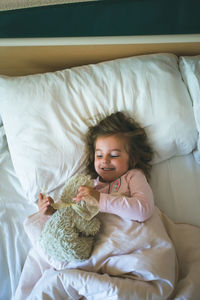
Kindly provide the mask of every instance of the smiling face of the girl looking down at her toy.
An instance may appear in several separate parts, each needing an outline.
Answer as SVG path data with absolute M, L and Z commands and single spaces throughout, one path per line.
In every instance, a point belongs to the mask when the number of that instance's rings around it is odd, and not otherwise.
M 129 169 L 127 140 L 122 135 L 99 136 L 95 143 L 94 167 L 102 181 L 112 182 Z

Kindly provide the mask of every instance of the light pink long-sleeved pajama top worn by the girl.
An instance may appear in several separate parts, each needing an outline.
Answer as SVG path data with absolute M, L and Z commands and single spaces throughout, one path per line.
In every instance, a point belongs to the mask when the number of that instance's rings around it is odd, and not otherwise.
M 132 169 L 111 183 L 94 180 L 100 192 L 99 210 L 123 219 L 144 222 L 154 211 L 154 199 L 144 173 Z

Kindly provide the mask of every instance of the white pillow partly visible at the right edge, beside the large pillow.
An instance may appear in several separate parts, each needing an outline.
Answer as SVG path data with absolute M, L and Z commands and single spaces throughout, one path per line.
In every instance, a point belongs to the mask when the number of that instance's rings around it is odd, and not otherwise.
M 193 101 L 193 110 L 196 120 L 199 139 L 194 151 L 195 160 L 200 164 L 200 55 L 182 56 L 179 59 L 180 71 L 190 92 Z

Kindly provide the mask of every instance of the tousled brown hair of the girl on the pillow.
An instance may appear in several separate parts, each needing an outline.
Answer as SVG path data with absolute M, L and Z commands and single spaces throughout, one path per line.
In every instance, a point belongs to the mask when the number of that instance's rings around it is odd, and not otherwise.
M 148 143 L 145 130 L 132 118 L 122 112 L 112 113 L 97 125 L 89 127 L 86 135 L 86 171 L 95 178 L 95 142 L 99 136 L 122 134 L 127 138 L 125 149 L 129 154 L 129 169 L 141 169 L 150 178 L 153 151 Z

